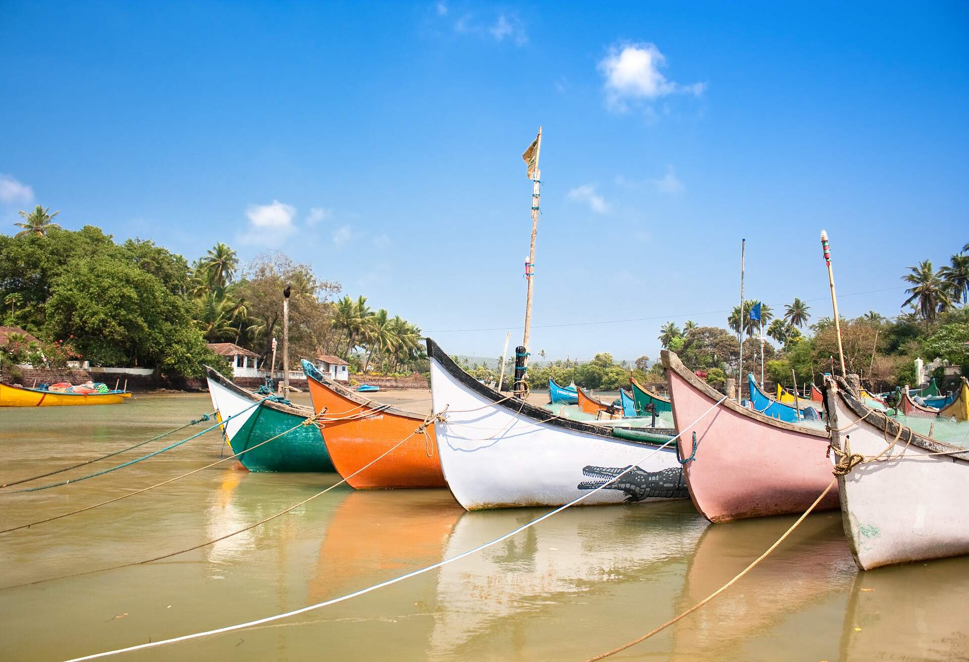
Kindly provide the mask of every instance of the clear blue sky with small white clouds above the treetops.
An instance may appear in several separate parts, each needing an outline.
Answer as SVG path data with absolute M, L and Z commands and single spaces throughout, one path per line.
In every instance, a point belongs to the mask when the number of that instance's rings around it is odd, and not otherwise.
M 534 352 L 723 326 L 741 237 L 748 298 L 829 314 L 822 228 L 841 294 L 898 288 L 843 314 L 897 314 L 969 241 L 969 5 L 735 5 L 0 0 L 0 229 L 278 247 L 496 356 L 541 124 Z

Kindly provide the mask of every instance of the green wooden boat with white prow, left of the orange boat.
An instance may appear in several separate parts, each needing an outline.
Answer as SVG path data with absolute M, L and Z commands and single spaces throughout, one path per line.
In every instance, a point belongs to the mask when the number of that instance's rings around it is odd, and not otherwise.
M 327 446 L 315 425 L 300 424 L 313 416 L 309 407 L 273 401 L 236 386 L 231 379 L 205 366 L 208 394 L 219 420 L 226 421 L 223 434 L 233 449 L 242 453 L 277 434 L 283 436 L 246 451 L 238 457 L 249 471 L 333 471 Z M 259 406 L 253 407 L 254 402 Z M 296 429 L 292 429 L 293 427 Z M 291 430 L 287 432 L 287 430 Z

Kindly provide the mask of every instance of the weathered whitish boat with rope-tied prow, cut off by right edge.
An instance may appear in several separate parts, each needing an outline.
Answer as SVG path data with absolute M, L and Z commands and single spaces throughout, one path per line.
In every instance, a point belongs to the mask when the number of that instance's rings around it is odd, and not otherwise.
M 825 410 L 832 460 L 865 458 L 838 476 L 861 570 L 969 553 L 969 451 L 872 411 L 840 377 L 825 380 Z M 875 457 L 883 459 L 868 461 Z

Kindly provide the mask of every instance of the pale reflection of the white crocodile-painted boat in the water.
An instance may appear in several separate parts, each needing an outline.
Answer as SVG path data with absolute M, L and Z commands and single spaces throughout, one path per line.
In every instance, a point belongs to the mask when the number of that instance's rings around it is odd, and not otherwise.
M 467 513 L 445 556 L 546 512 Z M 601 623 L 622 619 L 628 632 L 638 632 L 654 609 L 669 617 L 706 525 L 684 502 L 574 508 L 447 565 L 438 573 L 427 659 L 581 659 L 601 652 L 615 639 Z

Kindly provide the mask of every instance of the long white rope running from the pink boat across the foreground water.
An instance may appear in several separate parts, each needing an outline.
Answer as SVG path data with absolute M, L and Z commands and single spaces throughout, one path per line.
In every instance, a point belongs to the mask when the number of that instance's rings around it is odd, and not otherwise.
M 713 403 L 706 411 L 703 412 L 703 414 L 701 414 L 701 416 L 696 421 L 694 421 L 689 426 L 684 427 L 684 429 L 689 429 L 690 427 L 696 426 L 698 423 L 700 423 L 700 421 L 703 420 L 704 417 L 706 417 L 707 414 L 709 414 L 711 411 L 713 411 L 718 406 L 720 406 L 720 404 L 725 399 L 727 399 L 727 396 L 726 395 L 724 395 L 719 400 L 717 400 L 715 403 Z M 480 407 L 480 408 L 484 408 L 484 407 L 491 406 L 491 404 L 492 403 L 488 403 L 488 404 L 486 404 L 486 405 L 484 405 L 483 407 Z M 467 411 L 474 411 L 474 410 L 467 410 Z M 438 414 L 437 416 L 438 417 L 441 417 L 442 419 L 444 418 L 443 412 L 441 414 Z M 471 550 L 468 550 L 467 552 L 461 552 L 459 554 L 456 554 L 454 556 L 451 556 L 449 558 L 446 558 L 446 559 L 444 559 L 442 561 L 438 561 L 437 563 L 433 563 L 431 565 L 425 566 L 425 567 L 420 568 L 418 570 L 414 570 L 414 571 L 409 572 L 409 573 L 406 573 L 404 575 L 400 575 L 398 577 L 395 577 L 395 578 L 393 578 L 391 580 L 388 580 L 387 582 L 376 583 L 376 584 L 373 584 L 371 586 L 367 586 L 366 588 L 361 588 L 358 591 L 354 591 L 353 593 L 347 593 L 346 595 L 341 595 L 340 597 L 332 598 L 332 599 L 327 600 L 327 601 L 324 601 L 324 602 L 318 602 L 315 605 L 309 605 L 307 607 L 301 607 L 301 608 L 299 608 L 297 610 L 293 610 L 293 611 L 290 611 L 290 612 L 284 612 L 282 614 L 276 614 L 276 615 L 266 616 L 264 618 L 258 618 L 256 620 L 250 620 L 250 621 L 246 621 L 244 623 L 236 623 L 234 625 L 227 625 L 225 627 L 216 628 L 214 630 L 206 630 L 204 632 L 196 632 L 196 633 L 193 633 L 193 634 L 190 634 L 190 635 L 182 635 L 181 637 L 172 637 L 172 639 L 163 639 L 163 640 L 160 640 L 160 641 L 157 641 L 157 642 L 148 642 L 147 644 L 139 644 L 137 646 L 128 646 L 128 647 L 125 647 L 125 648 L 117 648 L 115 650 L 107 650 L 105 652 L 93 653 L 91 655 L 84 655 L 82 657 L 76 657 L 76 658 L 73 658 L 71 660 L 68 660 L 68 662 L 82 662 L 83 660 L 94 660 L 94 659 L 98 659 L 98 658 L 101 658 L 101 657 L 108 657 L 109 655 L 118 655 L 120 653 L 132 652 L 132 651 L 135 651 L 135 650 L 142 650 L 144 648 L 154 648 L 154 647 L 157 647 L 157 646 L 166 646 L 168 644 L 176 644 L 178 642 L 186 642 L 186 641 L 193 640 L 193 639 L 200 639 L 202 637 L 209 637 L 211 635 L 223 634 L 225 632 L 232 632 L 234 630 L 242 630 L 242 629 L 245 629 L 245 628 L 248 628 L 248 627 L 253 627 L 253 626 L 256 626 L 256 625 L 262 625 L 264 623 L 269 623 L 269 622 L 272 622 L 272 621 L 275 621 L 275 620 L 280 620 L 282 618 L 288 618 L 289 616 L 294 616 L 294 615 L 299 615 L 299 614 L 305 614 L 307 612 L 312 612 L 314 610 L 318 610 L 318 609 L 321 609 L 323 607 L 328 607 L 329 605 L 335 605 L 336 603 L 344 602 L 346 600 L 350 600 L 351 598 L 359 597 L 360 595 L 365 595 L 367 593 L 370 593 L 372 591 L 378 590 L 380 588 L 385 588 L 387 586 L 391 586 L 394 583 L 400 583 L 400 582 L 403 582 L 405 580 L 409 580 L 409 579 L 411 579 L 413 577 L 418 577 L 419 575 L 423 575 L 424 573 L 430 572 L 431 570 L 437 570 L 438 568 L 441 568 L 441 567 L 446 566 L 446 565 L 448 565 L 450 563 L 453 563 L 454 561 L 459 561 L 462 558 L 465 558 L 467 556 L 471 556 L 472 554 L 475 554 L 475 553 L 478 553 L 478 552 L 482 552 L 482 551 L 484 551 L 484 550 L 486 550 L 486 549 L 488 549 L 490 547 L 494 547 L 495 545 L 498 545 L 499 543 L 502 543 L 502 542 L 508 540 L 509 538 L 517 535 L 518 533 L 524 531 L 525 529 L 531 528 L 535 524 L 538 524 L 539 522 L 545 521 L 548 518 L 552 517 L 553 515 L 556 515 L 558 513 L 561 513 L 562 511 L 566 510 L 567 508 L 571 508 L 572 506 L 575 506 L 576 504 L 581 503 L 582 501 L 584 501 L 585 499 L 589 498 L 590 496 L 592 496 L 596 492 L 598 492 L 598 491 L 600 491 L 602 489 L 606 489 L 608 486 L 610 486 L 611 484 L 615 483 L 616 481 L 618 481 L 619 479 L 621 479 L 623 476 L 625 476 L 627 473 L 629 473 L 634 468 L 636 468 L 637 465 L 641 464 L 642 462 L 644 462 L 645 460 L 647 460 L 649 457 L 652 457 L 653 455 L 659 453 L 666 446 L 669 446 L 670 444 L 672 444 L 672 442 L 675 441 L 679 437 L 680 434 L 682 434 L 682 432 L 680 432 L 680 433 L 676 434 L 675 436 L 671 437 L 670 440 L 667 441 L 665 444 L 663 444 L 662 446 L 659 446 L 659 447 L 653 449 L 650 453 L 646 454 L 644 457 L 641 457 L 641 459 L 639 461 L 630 464 L 628 467 L 626 467 L 625 469 L 623 469 L 622 471 L 620 471 L 618 474 L 616 474 L 616 476 L 614 478 L 612 478 L 612 480 L 604 483 L 603 485 L 599 486 L 598 488 L 590 489 L 589 491 L 584 492 L 583 494 L 579 495 L 578 497 L 576 497 L 572 501 L 569 501 L 565 505 L 559 506 L 558 508 L 555 508 L 554 510 L 551 510 L 551 511 L 547 512 L 545 515 L 543 515 L 543 516 L 541 516 L 539 518 L 536 518 L 535 520 L 528 521 L 528 522 L 522 524 L 521 526 L 517 527 L 515 530 L 510 531 L 508 533 L 505 533 L 504 535 L 499 536 L 498 538 L 495 538 L 492 541 L 489 541 L 487 543 L 484 543 L 482 545 L 479 545 L 478 547 L 475 547 L 475 548 L 473 548 Z

